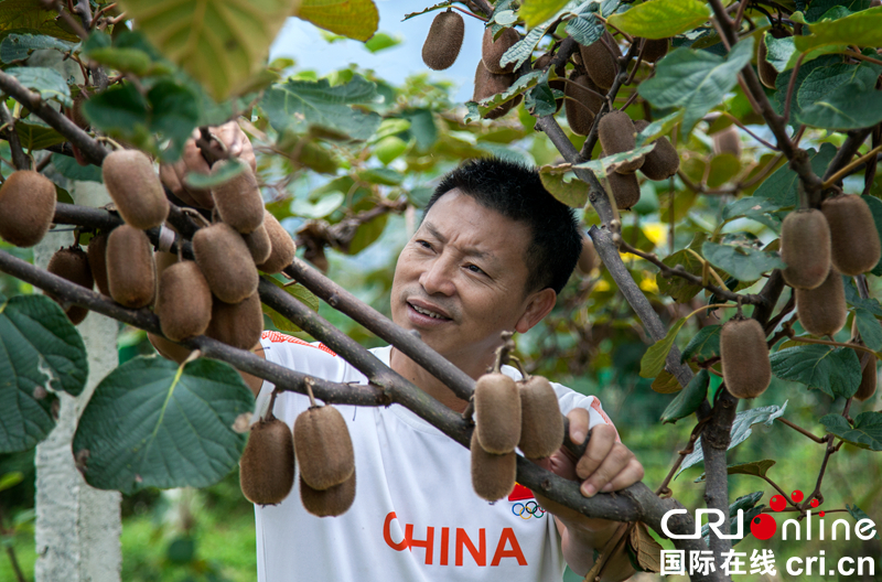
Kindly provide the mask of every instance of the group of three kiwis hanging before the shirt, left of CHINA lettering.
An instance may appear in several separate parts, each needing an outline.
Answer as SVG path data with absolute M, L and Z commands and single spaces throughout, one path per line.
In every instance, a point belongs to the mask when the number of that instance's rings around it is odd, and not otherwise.
M 300 467 L 300 500 L 318 517 L 344 514 L 355 500 L 355 453 L 346 421 L 332 406 L 311 406 L 293 431 L 273 417 L 251 425 L 239 461 L 239 486 L 258 505 L 276 505 L 291 493 Z

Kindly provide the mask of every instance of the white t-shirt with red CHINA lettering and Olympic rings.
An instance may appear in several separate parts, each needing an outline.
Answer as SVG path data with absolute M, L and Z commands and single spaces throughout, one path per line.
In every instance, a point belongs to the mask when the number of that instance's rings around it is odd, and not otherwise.
M 263 332 L 267 359 L 336 382 L 365 376 L 322 344 Z M 389 364 L 391 347 L 372 349 Z M 517 370 L 503 371 L 516 379 Z M 591 425 L 612 424 L 596 398 L 552 384 L 564 414 L 587 409 Z M 262 413 L 272 384 L 257 399 Z M 273 413 L 292 425 L 309 399 L 283 392 Z M 260 582 L 552 581 L 564 562 L 555 520 L 526 487 L 488 503 L 472 489 L 470 452 L 410 410 L 337 406 L 355 449 L 356 493 L 340 517 L 303 509 L 294 488 L 281 504 L 255 506 Z

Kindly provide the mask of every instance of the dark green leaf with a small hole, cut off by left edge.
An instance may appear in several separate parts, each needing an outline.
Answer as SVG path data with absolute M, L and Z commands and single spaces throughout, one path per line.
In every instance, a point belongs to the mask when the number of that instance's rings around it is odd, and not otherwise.
M 86 346 L 45 295 L 0 295 L 0 453 L 26 451 L 55 427 L 52 391 L 83 391 Z

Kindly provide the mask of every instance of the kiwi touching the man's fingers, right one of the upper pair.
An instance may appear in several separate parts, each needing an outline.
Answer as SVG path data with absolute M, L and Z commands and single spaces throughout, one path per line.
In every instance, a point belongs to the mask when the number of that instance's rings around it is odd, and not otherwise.
M 550 456 L 563 444 L 563 417 L 551 382 L 530 376 L 520 382 L 520 441 L 524 456 Z

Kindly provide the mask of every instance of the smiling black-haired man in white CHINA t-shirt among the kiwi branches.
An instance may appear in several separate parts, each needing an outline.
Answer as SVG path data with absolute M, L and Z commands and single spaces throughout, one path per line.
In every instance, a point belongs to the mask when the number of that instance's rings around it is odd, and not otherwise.
M 445 176 L 395 270 L 392 320 L 473 378 L 493 364 L 501 333 L 524 333 L 555 305 L 581 250 L 572 212 L 541 185 L 534 170 L 486 159 Z M 321 344 L 276 332 L 263 357 L 332 381 L 364 376 Z M 466 402 L 395 348 L 373 351 L 381 362 L 453 410 Z M 513 368 L 504 369 L 519 378 Z M 621 442 L 593 397 L 555 385 L 570 438 L 591 433 L 582 459 L 563 451 L 538 461 L 581 482 L 585 496 L 622 489 L 643 467 Z M 258 410 L 269 402 L 263 382 Z M 293 424 L 309 407 L 284 392 L 273 408 Z M 399 406 L 337 407 L 355 448 L 356 496 L 348 511 L 316 518 L 299 494 L 256 506 L 258 580 L 560 580 L 563 561 L 579 574 L 593 563 L 615 522 L 559 508 L 553 522 L 531 492 L 517 486 L 487 503 L 471 487 L 470 452 Z M 624 552 L 604 578 L 633 573 Z

